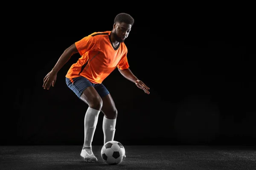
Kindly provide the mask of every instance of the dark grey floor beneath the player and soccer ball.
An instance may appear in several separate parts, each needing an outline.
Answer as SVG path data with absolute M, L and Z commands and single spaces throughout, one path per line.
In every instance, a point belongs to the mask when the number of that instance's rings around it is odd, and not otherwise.
M 125 146 L 126 158 L 108 165 L 80 157 L 81 146 L 0 146 L 0 170 L 256 170 L 252 146 Z

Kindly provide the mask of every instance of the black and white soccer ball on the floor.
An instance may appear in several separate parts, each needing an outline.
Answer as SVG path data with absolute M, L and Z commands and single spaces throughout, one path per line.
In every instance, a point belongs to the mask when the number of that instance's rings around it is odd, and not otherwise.
M 110 165 L 116 165 L 124 160 L 125 147 L 117 141 L 106 142 L 101 150 L 102 159 Z

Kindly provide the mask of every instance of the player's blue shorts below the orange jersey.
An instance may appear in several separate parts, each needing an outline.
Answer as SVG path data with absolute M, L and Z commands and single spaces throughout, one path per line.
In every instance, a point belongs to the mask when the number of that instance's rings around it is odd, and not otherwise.
M 109 94 L 109 91 L 102 83 L 94 84 L 91 83 L 87 78 L 81 76 L 73 78 L 72 82 L 69 78 L 66 77 L 66 84 L 76 94 L 76 96 L 79 97 L 79 99 L 83 91 L 90 86 L 93 86 L 95 90 L 98 92 L 99 96 L 101 97 L 104 97 Z

